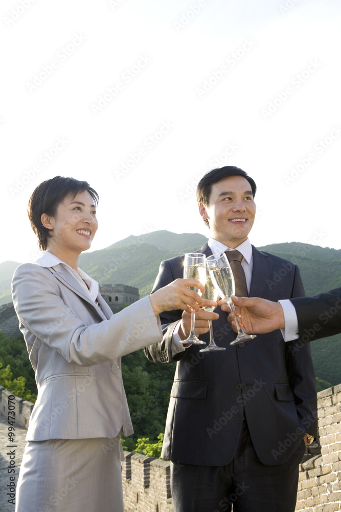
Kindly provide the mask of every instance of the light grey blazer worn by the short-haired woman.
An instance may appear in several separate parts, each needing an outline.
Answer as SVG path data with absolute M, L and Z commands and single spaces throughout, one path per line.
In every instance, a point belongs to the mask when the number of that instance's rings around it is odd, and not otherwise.
M 121 356 L 162 339 L 149 297 L 113 315 L 63 265 L 32 263 L 15 270 L 12 294 L 38 387 L 26 440 L 132 434 Z

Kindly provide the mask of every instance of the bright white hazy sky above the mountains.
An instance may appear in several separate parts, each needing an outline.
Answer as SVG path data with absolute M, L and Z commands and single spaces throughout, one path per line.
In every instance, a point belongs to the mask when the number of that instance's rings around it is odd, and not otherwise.
M 43 180 L 98 191 L 97 250 L 159 229 L 208 234 L 195 186 L 223 165 L 257 183 L 254 245 L 341 248 L 339 0 L 2 0 L 0 11 L 0 262 L 37 254 L 26 208 Z

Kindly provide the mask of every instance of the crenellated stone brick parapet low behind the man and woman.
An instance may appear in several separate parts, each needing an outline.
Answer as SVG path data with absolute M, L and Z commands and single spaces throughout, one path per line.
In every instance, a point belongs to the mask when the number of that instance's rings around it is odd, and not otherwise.
M 11 393 L 0 386 L 0 413 Z M 341 510 L 341 385 L 317 394 L 319 438 L 300 465 L 297 511 Z M 14 398 L 15 421 L 27 428 L 33 403 Z M 173 512 L 170 462 L 125 452 L 122 482 L 126 512 Z

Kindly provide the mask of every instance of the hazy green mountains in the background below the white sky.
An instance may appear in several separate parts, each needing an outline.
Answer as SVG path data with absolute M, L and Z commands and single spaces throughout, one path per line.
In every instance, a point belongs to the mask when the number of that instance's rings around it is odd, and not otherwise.
M 81 254 L 79 266 L 100 284 L 126 284 L 148 295 L 161 261 L 200 248 L 207 238 L 198 233 L 166 230 L 130 236 L 105 249 Z M 260 250 L 299 265 L 307 295 L 341 286 L 341 250 L 298 242 L 272 244 Z M 0 264 L 0 304 L 11 302 L 10 283 L 18 263 Z M 327 385 L 341 382 L 341 334 L 311 343 L 316 376 Z M 325 385 L 326 387 L 326 385 Z

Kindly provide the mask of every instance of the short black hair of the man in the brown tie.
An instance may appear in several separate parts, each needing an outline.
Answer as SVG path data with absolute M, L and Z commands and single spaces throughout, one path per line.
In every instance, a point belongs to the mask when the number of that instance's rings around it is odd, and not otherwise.
M 226 167 L 212 169 L 201 178 L 196 187 L 196 198 L 198 203 L 202 203 L 204 206 L 209 206 L 212 185 L 224 178 L 230 178 L 231 176 L 242 176 L 245 178 L 245 180 L 249 182 L 252 194 L 255 197 L 257 189 L 255 181 L 249 177 L 243 169 L 235 167 L 234 165 L 228 165 Z M 209 226 L 209 221 L 207 219 L 204 219 L 203 222 Z

